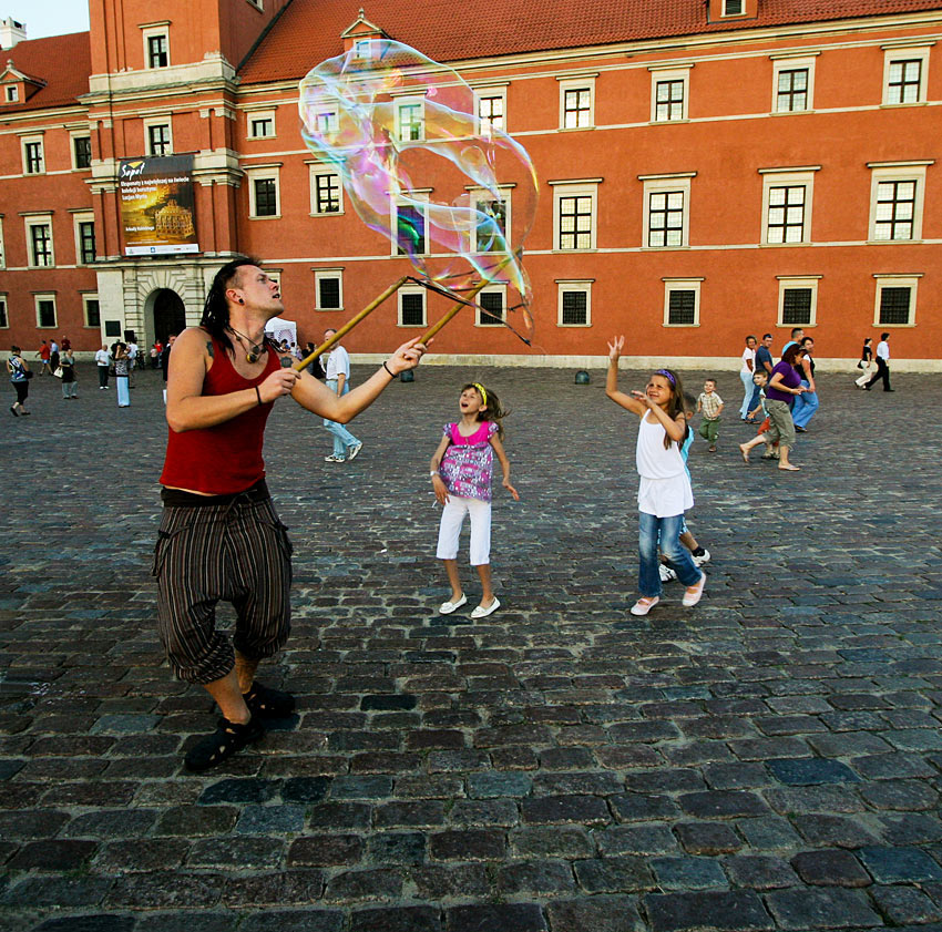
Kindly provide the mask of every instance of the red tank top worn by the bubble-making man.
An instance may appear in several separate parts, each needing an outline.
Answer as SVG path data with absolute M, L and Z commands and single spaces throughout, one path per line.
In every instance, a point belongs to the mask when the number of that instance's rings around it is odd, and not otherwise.
M 269 348 L 260 376 L 244 379 L 235 370 L 228 350 L 213 340 L 213 365 L 203 382 L 203 395 L 229 395 L 262 385 L 280 367 Z M 250 489 L 265 477 L 262 442 L 272 403 L 256 404 L 221 424 L 181 433 L 170 430 L 161 484 L 208 495 L 228 495 Z

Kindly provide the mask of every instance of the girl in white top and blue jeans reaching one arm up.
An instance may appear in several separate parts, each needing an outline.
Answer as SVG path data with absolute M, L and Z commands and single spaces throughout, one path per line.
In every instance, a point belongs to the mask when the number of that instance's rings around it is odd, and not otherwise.
M 618 391 L 618 359 L 624 337 L 608 344 L 608 377 L 605 395 L 616 404 L 641 418 L 636 462 L 638 475 L 638 588 L 641 598 L 633 615 L 646 615 L 661 601 L 657 547 L 686 586 L 683 603 L 696 605 L 706 584 L 706 573 L 694 565 L 689 551 L 680 545 L 684 512 L 694 505 L 690 480 L 684 469 L 680 444 L 687 432 L 684 389 L 669 369 L 658 369 L 644 392 Z

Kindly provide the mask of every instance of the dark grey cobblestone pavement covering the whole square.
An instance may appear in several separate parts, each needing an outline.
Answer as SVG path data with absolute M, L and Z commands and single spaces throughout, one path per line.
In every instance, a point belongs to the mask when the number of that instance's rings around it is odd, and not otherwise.
M 119 410 L 80 377 L 70 402 L 34 379 L 0 449 L 2 929 L 942 928 L 934 377 L 887 399 L 823 376 L 799 473 L 745 467 L 737 420 L 716 454 L 698 439 L 706 596 L 672 583 L 645 618 L 636 421 L 601 371 L 426 367 L 339 467 L 281 402 L 295 629 L 264 679 L 298 714 L 203 776 L 181 759 L 211 703 L 154 633 L 158 378 Z M 513 409 L 521 492 L 495 500 L 504 607 L 478 623 L 437 614 L 427 477 L 470 377 Z

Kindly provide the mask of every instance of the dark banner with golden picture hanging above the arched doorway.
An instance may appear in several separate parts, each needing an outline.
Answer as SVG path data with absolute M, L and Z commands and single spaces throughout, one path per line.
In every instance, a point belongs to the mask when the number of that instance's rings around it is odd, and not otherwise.
M 192 155 L 122 158 L 117 193 L 125 256 L 199 252 Z

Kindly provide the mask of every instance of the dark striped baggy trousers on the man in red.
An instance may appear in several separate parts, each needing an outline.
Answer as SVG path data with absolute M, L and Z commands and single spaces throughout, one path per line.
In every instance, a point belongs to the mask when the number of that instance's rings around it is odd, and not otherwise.
M 276 654 L 290 632 L 291 544 L 269 498 L 165 505 L 153 575 L 157 627 L 174 674 L 213 683 L 244 657 Z M 216 631 L 216 604 L 236 611 L 233 645 Z

